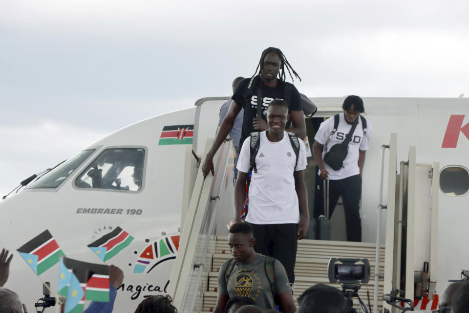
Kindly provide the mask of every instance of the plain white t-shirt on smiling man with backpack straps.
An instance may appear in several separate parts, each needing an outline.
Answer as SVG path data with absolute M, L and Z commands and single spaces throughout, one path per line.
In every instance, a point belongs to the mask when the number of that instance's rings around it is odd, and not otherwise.
M 299 222 L 298 196 L 295 191 L 296 155 L 286 132 L 282 140 L 271 142 L 265 132 L 259 135 L 256 156 L 257 173 L 249 185 L 249 211 L 246 222 L 253 224 L 288 224 Z M 297 171 L 306 168 L 306 150 L 301 139 Z M 251 137 L 247 137 L 239 153 L 236 168 L 248 173 L 251 159 Z

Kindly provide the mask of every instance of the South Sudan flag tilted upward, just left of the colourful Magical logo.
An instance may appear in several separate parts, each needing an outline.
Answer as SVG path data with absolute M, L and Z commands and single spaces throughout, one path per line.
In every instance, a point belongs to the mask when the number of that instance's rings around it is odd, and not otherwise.
M 115 256 L 119 251 L 128 246 L 133 240 L 133 237 L 127 231 L 117 226 L 116 229 L 104 235 L 88 247 L 96 253 L 97 256 L 104 262 Z

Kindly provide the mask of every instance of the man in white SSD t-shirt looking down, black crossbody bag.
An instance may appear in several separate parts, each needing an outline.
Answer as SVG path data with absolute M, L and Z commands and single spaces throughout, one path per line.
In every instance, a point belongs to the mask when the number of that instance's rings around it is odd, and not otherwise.
M 332 216 L 334 208 L 342 197 L 345 213 L 345 226 L 347 241 L 362 241 L 362 221 L 360 219 L 360 198 L 362 197 L 362 171 L 365 162 L 365 153 L 370 144 L 371 125 L 366 122 L 363 127 L 360 113 L 364 112 L 363 100 L 359 96 L 351 95 L 345 98 L 342 104 L 343 113 L 339 114 L 339 125 L 332 138 L 329 139 L 334 129 L 334 116 L 321 123 L 314 137 L 313 156 L 319 166 L 321 179 L 329 177 L 329 217 Z M 364 118 L 363 118 L 364 119 Z M 348 144 L 348 153 L 343 160 L 343 167 L 334 171 L 323 162 L 324 155 L 329 149 L 341 143 L 350 132 L 354 122 L 358 122 L 351 141 Z M 364 135 L 363 130 L 366 129 Z M 326 149 L 323 149 L 324 145 Z M 322 194 L 322 183 L 320 184 Z M 315 207 L 314 217 L 317 218 L 322 212 Z

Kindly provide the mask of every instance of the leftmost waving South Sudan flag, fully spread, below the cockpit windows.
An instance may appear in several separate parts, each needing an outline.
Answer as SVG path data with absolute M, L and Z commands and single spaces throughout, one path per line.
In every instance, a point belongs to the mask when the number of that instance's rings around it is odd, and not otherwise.
M 16 250 L 36 275 L 41 275 L 58 263 L 61 255 L 65 256 L 48 230 L 44 230 Z

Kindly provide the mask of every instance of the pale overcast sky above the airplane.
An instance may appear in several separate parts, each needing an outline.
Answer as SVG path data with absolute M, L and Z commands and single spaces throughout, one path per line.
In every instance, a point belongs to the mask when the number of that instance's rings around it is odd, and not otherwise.
M 128 124 L 229 96 L 268 46 L 310 97 L 469 93 L 468 13 L 467 0 L 0 0 L 0 196 Z

